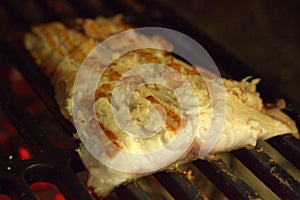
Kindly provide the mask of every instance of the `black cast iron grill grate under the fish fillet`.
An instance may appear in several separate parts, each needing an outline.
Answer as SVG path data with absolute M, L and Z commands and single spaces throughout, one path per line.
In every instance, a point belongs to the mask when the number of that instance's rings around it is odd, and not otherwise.
M 95 17 L 98 14 L 111 15 L 121 12 L 128 16 L 127 20 L 130 23 L 135 25 L 157 25 L 173 28 L 186 33 L 197 41 L 201 41 L 201 44 L 210 52 L 218 66 L 222 66 L 222 69 L 224 65 L 230 66 L 230 68 L 224 67 L 222 74 L 242 78 L 251 72 L 242 62 L 226 53 L 198 29 L 182 20 L 180 16 L 158 1 L 143 1 L 143 4 L 134 0 L 105 1 L 101 3 L 94 0 L 76 0 L 72 3 L 61 1 L 61 5 L 71 6 L 69 12 L 60 12 L 55 2 L 32 0 L 21 5 L 15 0 L 4 1 L 0 6 L 9 11 L 6 13 L 4 20 L 11 22 L 12 28 L 1 28 L 1 34 L 9 35 L 1 41 L 1 55 L 7 56 L 7 59 L 21 72 L 22 76 L 52 113 L 56 122 L 63 127 L 66 135 L 70 136 L 74 132 L 74 128 L 60 114 L 54 101 L 53 88 L 32 62 L 19 41 L 19 35 L 33 24 L 50 20 Z M 32 10 L 36 10 L 37 13 L 31 13 Z M 148 11 L 147 14 L 144 13 L 145 10 Z M 178 24 L 180 24 L 180 27 Z M 241 66 L 243 67 L 241 68 Z M 265 99 L 276 97 L 270 92 L 275 90 L 270 89 L 268 86 L 263 86 L 262 90 L 268 91 L 267 93 L 264 92 L 266 94 Z M 29 185 L 34 182 L 45 181 L 55 184 L 66 199 L 92 199 L 91 194 L 76 176 L 77 172 L 84 171 L 84 167 L 74 149 L 62 149 L 53 145 L 45 137 L 45 130 L 40 130 L 36 120 L 27 112 L 23 102 L 11 92 L 11 88 L 5 80 L 0 82 L 0 93 L 1 108 L 35 155 L 34 158 L 27 160 L 10 159 L 9 154 L 0 145 L 0 193 L 9 195 L 13 199 L 35 199 Z M 294 110 L 290 114 L 299 123 L 297 113 L 299 112 Z M 300 169 L 300 161 L 295 159 L 300 156 L 299 141 L 292 136 L 285 135 L 270 139 L 268 143 Z M 233 155 L 280 198 L 300 199 L 300 183 L 276 164 L 266 153 L 259 152 L 255 148 L 252 150 L 237 150 L 233 152 Z M 195 161 L 190 165 L 205 174 L 230 199 L 261 198 L 221 158 Z M 154 174 L 153 177 L 175 199 L 206 198 L 202 194 L 201 188 L 191 183 L 180 173 L 160 172 Z M 136 186 L 135 183 L 119 187 L 116 190 L 116 195 L 120 199 L 150 198 L 150 195 L 143 188 Z

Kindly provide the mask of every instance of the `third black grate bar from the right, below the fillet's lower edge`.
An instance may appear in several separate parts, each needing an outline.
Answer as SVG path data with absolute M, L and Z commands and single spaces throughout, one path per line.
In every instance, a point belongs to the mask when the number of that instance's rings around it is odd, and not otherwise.
M 228 198 L 262 199 L 217 156 L 193 162 Z

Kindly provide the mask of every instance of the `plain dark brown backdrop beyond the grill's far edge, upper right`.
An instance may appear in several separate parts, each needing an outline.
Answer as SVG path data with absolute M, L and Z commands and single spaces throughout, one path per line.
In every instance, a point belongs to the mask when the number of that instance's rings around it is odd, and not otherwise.
M 300 1 L 160 1 L 300 105 Z

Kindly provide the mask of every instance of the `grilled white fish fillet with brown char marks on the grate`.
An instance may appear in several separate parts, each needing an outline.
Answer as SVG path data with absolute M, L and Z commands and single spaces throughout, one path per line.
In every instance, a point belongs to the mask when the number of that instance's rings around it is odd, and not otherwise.
M 37 25 L 25 35 L 24 46 L 37 66 L 51 80 L 62 114 L 74 125 L 78 120 L 74 116 L 81 112 L 72 109 L 72 97 L 81 92 L 80 88 L 73 87 L 80 66 L 100 42 L 130 28 L 117 15 L 111 18 L 75 19 L 71 25 L 61 22 Z M 172 48 L 172 44 L 161 36 L 146 37 L 137 32 L 121 38 L 120 45 L 124 45 L 124 48 L 130 47 L 137 38 L 157 47 Z M 128 43 L 128 40 L 131 42 Z M 130 73 L 137 66 L 149 63 L 150 66 L 138 68 L 139 73 Z M 149 76 L 145 76 L 147 74 Z M 199 152 L 211 127 L 213 109 L 219 109 L 211 100 L 212 91 L 209 90 L 207 82 L 215 83 L 217 88 L 224 86 L 225 110 L 217 140 L 201 158 L 242 147 L 253 147 L 258 140 L 281 134 L 293 134 L 299 138 L 295 122 L 281 111 L 284 108 L 283 100 L 274 106 L 264 106 L 256 91 L 259 79 L 246 77 L 235 81 L 219 78 L 201 66 L 192 66 L 175 58 L 168 51 L 151 48 L 117 56 L 100 75 L 94 95 L 82 96 L 80 103 L 84 109 L 95 108 L 96 114 L 95 118 L 82 122 L 92 131 L 85 134 L 97 135 L 96 138 L 106 148 L 99 157 L 92 155 L 83 143 L 77 149 L 89 172 L 87 185 L 98 196 L 108 196 L 122 183 L 201 157 Z M 163 85 L 149 83 L 149 78 L 161 78 L 164 80 Z M 115 88 L 122 94 L 122 91 L 126 93 L 132 87 L 136 88 L 129 102 L 122 95 L 113 94 Z M 218 93 L 218 90 L 214 92 Z M 185 109 L 180 108 L 179 98 Z M 218 95 L 216 98 L 221 99 Z M 127 112 L 130 122 L 122 120 Z M 118 117 L 120 123 L 116 122 Z M 98 135 L 95 130 L 97 124 L 104 131 L 104 135 Z M 140 129 L 135 129 L 136 127 L 142 127 L 145 133 L 155 131 L 156 134 L 147 137 L 128 134 L 139 132 Z M 194 137 L 191 137 L 191 132 Z M 74 137 L 81 139 L 79 134 L 74 134 Z M 189 145 L 182 147 L 179 143 L 176 146 L 178 148 L 155 154 L 157 149 L 167 148 L 167 144 L 176 137 L 182 141 L 189 140 Z M 104 142 L 105 138 L 109 142 Z M 97 144 L 95 142 L 90 145 L 97 149 Z M 181 154 L 172 162 L 166 162 L 175 151 Z M 135 160 L 127 160 L 122 157 L 123 152 L 154 154 L 151 157 L 141 156 Z M 124 169 L 128 166 L 126 169 L 131 167 L 135 170 L 120 170 L 118 167 L 108 166 L 101 162 L 103 158 L 110 163 L 117 162 L 118 166 L 125 166 Z

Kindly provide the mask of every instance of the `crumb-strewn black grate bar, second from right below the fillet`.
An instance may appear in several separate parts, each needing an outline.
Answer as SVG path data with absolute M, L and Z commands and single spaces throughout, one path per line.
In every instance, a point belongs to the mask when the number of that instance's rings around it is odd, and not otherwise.
M 258 148 L 233 154 L 282 199 L 300 199 L 300 183 Z

